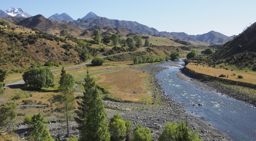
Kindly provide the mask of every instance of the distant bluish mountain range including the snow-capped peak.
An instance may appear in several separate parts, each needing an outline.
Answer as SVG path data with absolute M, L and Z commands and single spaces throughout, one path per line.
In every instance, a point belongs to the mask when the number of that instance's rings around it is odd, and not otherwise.
M 112 31 L 113 31 L 114 28 L 122 27 L 128 32 L 131 32 L 134 34 L 148 34 L 156 37 L 180 39 L 184 41 L 193 42 L 194 44 L 202 43 L 202 42 L 207 44 L 225 43 L 236 36 L 234 35 L 232 37 L 228 37 L 216 31 L 209 31 L 208 33 L 198 34 L 198 35 L 189 35 L 184 32 L 166 32 L 166 31 L 160 32 L 160 31 L 157 31 L 157 29 L 155 28 L 149 28 L 146 25 L 143 25 L 134 21 L 108 19 L 106 17 L 99 17 L 93 12 L 89 12 L 86 16 L 78 20 L 73 20 L 73 18 L 66 13 L 62 13 L 62 14 L 57 13 L 50 16 L 48 19 L 46 19 L 42 15 L 36 15 L 31 17 L 29 14 L 27 14 L 25 11 L 23 11 L 20 8 L 9 8 L 8 10 L 5 11 L 5 13 L 15 17 L 26 18 L 26 19 L 17 19 L 17 18 L 9 17 L 6 19 L 9 22 L 15 23 L 17 25 L 23 25 L 26 27 L 33 27 L 38 29 L 43 28 L 44 31 L 48 31 L 48 33 L 51 32 L 50 34 L 53 34 L 52 31 L 50 30 L 52 29 L 52 27 L 55 28 L 54 29 L 54 31 L 56 31 L 55 33 L 59 33 L 61 31 L 61 28 L 63 28 L 60 25 L 72 24 L 73 29 L 69 28 L 69 31 L 76 30 L 76 31 L 79 31 L 79 33 L 76 33 L 76 35 L 88 36 L 88 37 L 90 37 L 90 35 L 87 35 L 86 33 L 89 34 L 90 32 L 86 32 L 86 30 L 90 31 L 90 28 L 93 28 L 95 25 L 99 25 L 100 27 L 102 27 L 102 30 L 104 30 L 103 28 L 108 27 L 108 28 L 112 28 Z M 6 18 L 7 17 L 6 14 L 0 11 L 0 17 Z M 67 23 L 67 22 L 72 22 L 72 23 Z M 124 31 L 119 34 L 128 33 L 127 31 Z

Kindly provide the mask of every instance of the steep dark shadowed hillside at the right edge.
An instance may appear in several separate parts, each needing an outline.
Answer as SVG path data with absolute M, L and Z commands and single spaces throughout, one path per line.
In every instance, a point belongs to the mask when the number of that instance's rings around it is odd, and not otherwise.
M 212 62 L 236 65 L 256 71 L 256 23 L 251 25 L 212 56 Z M 217 61 L 216 61 L 217 60 Z

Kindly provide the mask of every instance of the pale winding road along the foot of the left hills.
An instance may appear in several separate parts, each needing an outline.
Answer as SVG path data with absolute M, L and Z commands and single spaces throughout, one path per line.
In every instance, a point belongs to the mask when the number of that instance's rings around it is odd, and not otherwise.
M 143 47 L 141 51 L 145 51 L 147 47 Z M 133 51 L 133 52 L 141 52 L 141 51 Z M 121 55 L 121 54 L 128 54 L 128 53 L 131 53 L 131 52 L 124 52 L 124 53 L 120 53 L 120 54 L 113 54 L 113 55 L 108 55 L 108 56 L 103 56 L 103 57 L 100 57 L 100 58 L 106 58 L 106 57 L 109 57 L 109 56 L 116 56 L 116 55 Z M 71 66 L 71 67 L 67 67 L 67 68 L 75 68 L 75 67 L 83 67 L 85 65 L 90 65 L 92 62 L 92 60 L 88 61 L 88 62 L 85 62 L 81 65 L 74 65 L 74 66 Z M 64 68 L 64 69 L 67 69 L 67 68 Z M 55 71 L 59 71 L 61 70 L 62 68 L 59 68 L 59 69 L 55 69 L 55 70 L 52 70 L 52 72 L 55 72 Z M 12 84 L 8 84 L 8 85 L 5 85 L 4 88 L 17 88 L 19 87 L 20 85 L 23 85 L 25 82 L 23 80 L 20 80 L 18 82 L 14 82 Z

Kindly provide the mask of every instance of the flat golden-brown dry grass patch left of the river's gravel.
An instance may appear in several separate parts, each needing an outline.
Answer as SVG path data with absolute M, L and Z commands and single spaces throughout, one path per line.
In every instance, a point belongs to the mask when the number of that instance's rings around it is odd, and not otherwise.
M 148 81 L 149 74 L 133 69 L 122 69 L 95 75 L 96 83 L 107 89 L 113 99 L 122 101 L 152 103 Z

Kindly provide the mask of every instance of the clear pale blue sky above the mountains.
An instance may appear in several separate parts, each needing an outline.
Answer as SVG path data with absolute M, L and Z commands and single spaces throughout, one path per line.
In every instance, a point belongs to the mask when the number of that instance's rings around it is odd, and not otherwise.
M 92 11 L 100 17 L 136 21 L 158 31 L 209 31 L 238 35 L 256 22 L 256 0 L 11 0 L 0 9 L 22 8 L 28 14 L 48 18 L 67 13 L 74 20 Z

